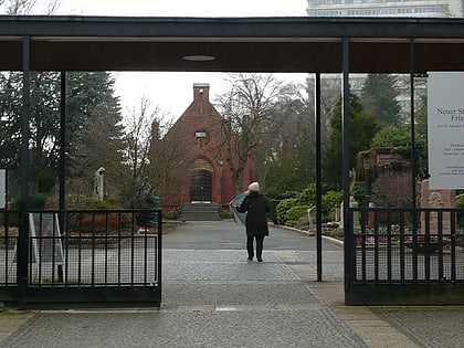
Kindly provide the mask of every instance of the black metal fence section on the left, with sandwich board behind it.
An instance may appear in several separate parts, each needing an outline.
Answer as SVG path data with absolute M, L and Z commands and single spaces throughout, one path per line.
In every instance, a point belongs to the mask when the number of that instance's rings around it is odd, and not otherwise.
M 25 239 L 18 211 L 0 214 L 0 302 L 159 307 L 161 211 L 29 212 Z

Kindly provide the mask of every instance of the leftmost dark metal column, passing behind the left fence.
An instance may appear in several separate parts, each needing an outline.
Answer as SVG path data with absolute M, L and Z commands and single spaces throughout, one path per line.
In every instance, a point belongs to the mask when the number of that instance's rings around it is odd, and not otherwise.
M 22 115 L 21 115 L 21 197 L 19 201 L 19 236 L 17 249 L 17 282 L 19 307 L 25 308 L 29 263 L 28 180 L 29 180 L 29 119 L 31 117 L 31 36 L 24 35 L 22 43 Z

